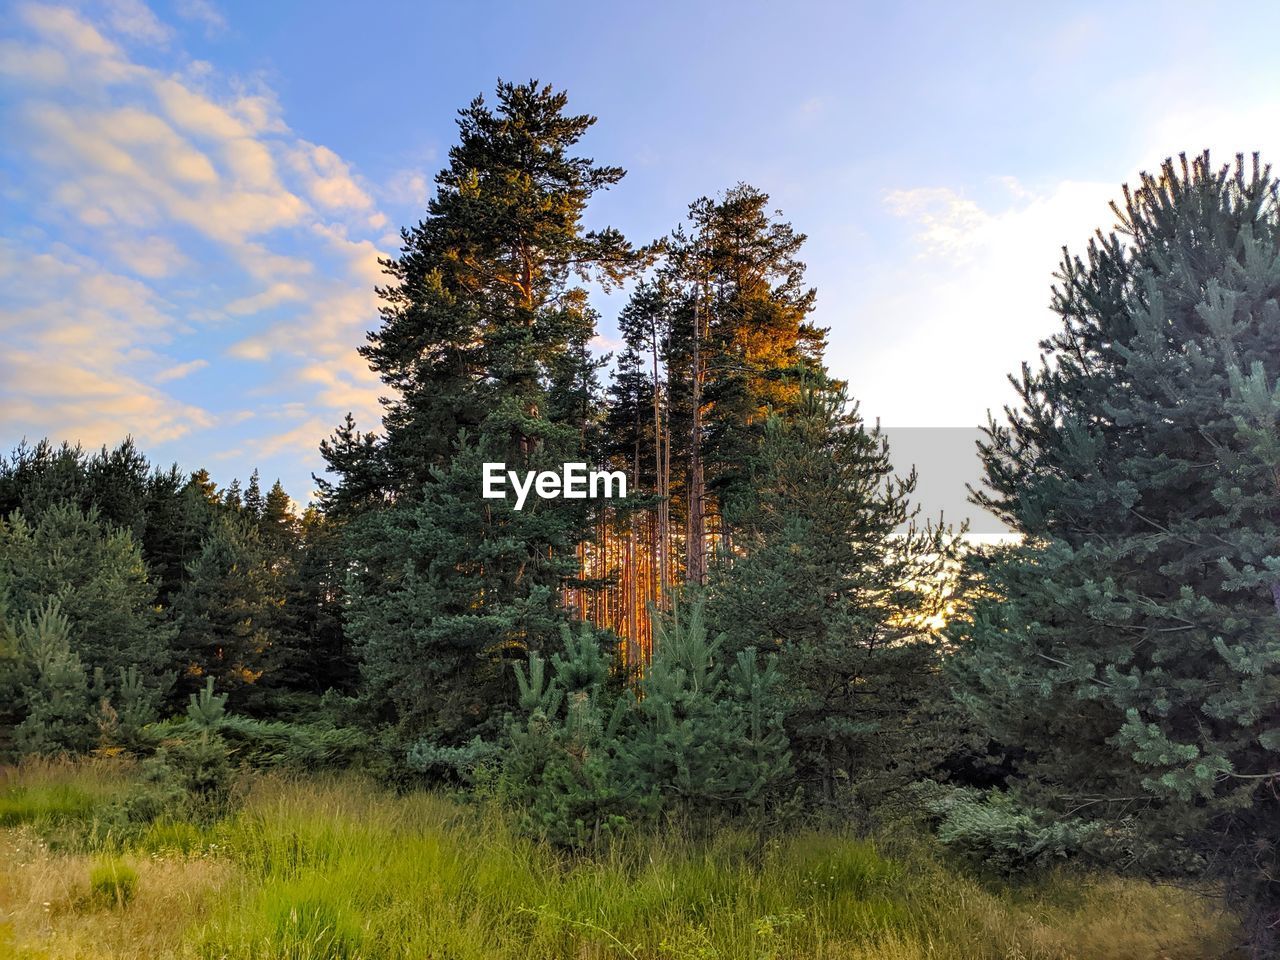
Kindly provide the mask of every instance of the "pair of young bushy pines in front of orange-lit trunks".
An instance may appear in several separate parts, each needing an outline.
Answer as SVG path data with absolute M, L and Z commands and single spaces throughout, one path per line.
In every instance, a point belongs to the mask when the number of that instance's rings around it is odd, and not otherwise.
M 609 682 L 607 636 L 566 626 L 562 644 L 516 667 L 520 712 L 499 783 L 526 829 L 584 847 L 663 810 L 763 823 L 791 778 L 773 658 L 759 666 L 744 650 L 726 668 L 700 604 L 664 621 L 635 695 Z

